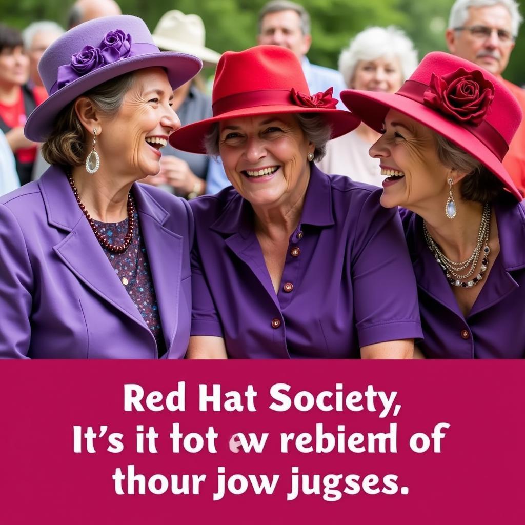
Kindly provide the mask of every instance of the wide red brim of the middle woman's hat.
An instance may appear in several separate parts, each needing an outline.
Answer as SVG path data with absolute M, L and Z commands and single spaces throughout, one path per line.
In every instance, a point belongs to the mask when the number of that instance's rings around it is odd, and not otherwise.
M 323 117 L 324 121 L 332 129 L 331 139 L 340 137 L 354 130 L 361 123 L 361 120 L 349 111 L 339 109 L 304 108 L 302 106 L 275 105 L 260 106 L 247 109 L 237 109 L 222 113 L 217 117 L 212 117 L 193 124 L 187 124 L 170 135 L 170 144 L 178 150 L 190 153 L 206 153 L 204 147 L 204 137 L 209 133 L 212 124 L 228 119 L 238 119 L 243 117 L 257 117 L 260 115 L 284 114 L 284 113 L 317 113 Z

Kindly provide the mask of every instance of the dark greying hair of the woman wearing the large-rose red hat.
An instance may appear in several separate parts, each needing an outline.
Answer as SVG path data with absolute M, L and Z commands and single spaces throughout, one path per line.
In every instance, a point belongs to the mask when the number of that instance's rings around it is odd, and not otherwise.
M 495 201 L 503 193 L 503 183 L 485 165 L 443 135 L 433 133 L 439 162 L 449 169 L 468 172 L 460 181 L 462 198 L 484 204 Z

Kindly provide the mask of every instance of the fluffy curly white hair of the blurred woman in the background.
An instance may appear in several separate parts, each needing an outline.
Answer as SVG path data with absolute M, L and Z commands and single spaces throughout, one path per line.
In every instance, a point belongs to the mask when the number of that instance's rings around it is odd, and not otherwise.
M 417 51 L 404 31 L 395 26 L 369 27 L 355 35 L 339 55 L 339 71 L 346 86 L 350 87 L 358 62 L 381 57 L 395 57 L 400 61 L 403 82 L 412 75 L 418 64 Z

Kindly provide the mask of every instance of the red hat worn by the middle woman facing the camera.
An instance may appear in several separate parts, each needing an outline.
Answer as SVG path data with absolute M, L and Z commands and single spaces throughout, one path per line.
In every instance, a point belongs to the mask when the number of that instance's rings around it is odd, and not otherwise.
M 337 110 L 332 88 L 308 95 L 298 58 L 284 47 L 256 46 L 220 57 L 213 85 L 213 117 L 188 124 L 170 135 L 175 148 L 206 153 L 205 135 L 212 124 L 226 119 L 279 113 L 318 113 L 332 129 L 331 138 L 358 127 L 352 113 Z

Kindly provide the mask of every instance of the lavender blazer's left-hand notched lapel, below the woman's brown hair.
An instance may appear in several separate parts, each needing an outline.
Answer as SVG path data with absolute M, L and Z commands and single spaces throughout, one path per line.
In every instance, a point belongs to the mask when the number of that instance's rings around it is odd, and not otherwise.
M 53 247 L 57 256 L 97 296 L 150 331 L 80 211 L 64 171 L 51 166 L 38 185 L 48 223 L 69 232 Z

